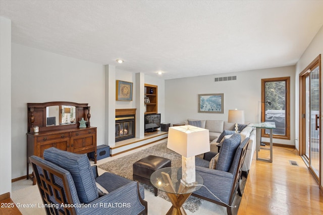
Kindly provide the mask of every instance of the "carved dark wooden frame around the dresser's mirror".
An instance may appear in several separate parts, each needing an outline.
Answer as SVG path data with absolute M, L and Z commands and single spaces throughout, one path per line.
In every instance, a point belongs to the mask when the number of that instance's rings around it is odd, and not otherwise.
M 48 106 L 69 105 L 75 106 L 75 124 L 66 125 L 53 125 L 46 126 L 46 107 Z M 73 129 L 80 126 L 79 121 L 84 118 L 86 127 L 90 127 L 90 107 L 87 103 L 76 102 L 44 102 L 44 103 L 27 103 L 28 109 L 28 133 L 34 133 L 34 126 L 39 127 L 39 132 L 60 130 L 60 129 Z

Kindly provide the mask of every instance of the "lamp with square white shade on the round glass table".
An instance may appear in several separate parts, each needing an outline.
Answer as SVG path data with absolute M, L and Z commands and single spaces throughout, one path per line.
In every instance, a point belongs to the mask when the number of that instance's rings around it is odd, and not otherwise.
M 195 183 L 195 156 L 210 151 L 208 130 L 192 125 L 170 127 L 167 148 L 182 155 L 182 183 Z

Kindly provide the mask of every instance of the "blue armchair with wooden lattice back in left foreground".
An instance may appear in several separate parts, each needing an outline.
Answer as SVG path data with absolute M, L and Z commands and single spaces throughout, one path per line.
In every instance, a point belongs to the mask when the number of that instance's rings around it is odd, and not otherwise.
M 29 158 L 47 214 L 147 214 L 144 189 L 113 173 L 98 176 L 86 155 L 56 148 Z

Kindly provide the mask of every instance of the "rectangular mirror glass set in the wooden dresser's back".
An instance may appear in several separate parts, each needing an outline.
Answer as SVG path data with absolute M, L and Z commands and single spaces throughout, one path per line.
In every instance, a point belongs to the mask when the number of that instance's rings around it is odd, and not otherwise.
M 76 108 L 71 105 L 46 107 L 46 126 L 75 124 Z

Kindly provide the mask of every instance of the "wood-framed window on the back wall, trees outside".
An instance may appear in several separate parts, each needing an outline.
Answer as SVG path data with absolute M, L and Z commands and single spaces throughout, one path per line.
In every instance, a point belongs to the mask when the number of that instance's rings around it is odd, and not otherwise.
M 290 77 L 261 79 L 261 121 L 275 122 L 273 137 L 290 139 Z M 269 130 L 261 136 L 269 137 Z

